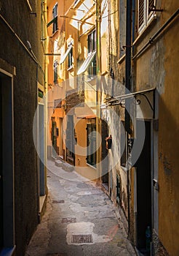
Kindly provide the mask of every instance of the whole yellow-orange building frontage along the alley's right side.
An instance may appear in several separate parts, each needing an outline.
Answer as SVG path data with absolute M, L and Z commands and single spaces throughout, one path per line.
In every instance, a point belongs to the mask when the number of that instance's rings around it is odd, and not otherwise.
M 49 157 L 100 181 L 136 251 L 178 255 L 178 1 L 96 4 L 49 1 Z

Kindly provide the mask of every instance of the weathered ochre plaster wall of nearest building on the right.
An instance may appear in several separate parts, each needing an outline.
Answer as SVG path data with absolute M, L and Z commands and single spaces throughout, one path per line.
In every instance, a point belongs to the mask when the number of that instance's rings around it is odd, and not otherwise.
M 162 14 L 141 35 L 136 52 L 178 9 L 178 1 L 165 1 Z M 156 255 L 178 255 L 178 18 L 170 23 L 143 55 L 135 60 L 136 89 L 156 86 L 159 92 L 159 234 Z M 156 157 L 156 156 L 155 156 Z M 154 209 L 157 211 L 157 208 Z M 158 239 L 158 240 L 157 240 Z

